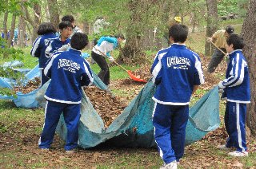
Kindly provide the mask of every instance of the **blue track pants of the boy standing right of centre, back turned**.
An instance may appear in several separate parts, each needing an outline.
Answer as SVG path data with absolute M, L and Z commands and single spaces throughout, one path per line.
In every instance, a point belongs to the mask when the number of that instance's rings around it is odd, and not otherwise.
M 189 105 L 154 105 L 154 138 L 165 163 L 179 161 L 184 155 Z

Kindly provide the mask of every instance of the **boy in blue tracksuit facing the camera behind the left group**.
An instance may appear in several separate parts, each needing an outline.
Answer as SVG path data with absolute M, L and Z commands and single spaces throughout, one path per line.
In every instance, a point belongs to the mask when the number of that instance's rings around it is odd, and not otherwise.
M 60 49 L 63 45 L 70 44 L 70 35 L 73 33 L 73 26 L 71 22 L 60 22 L 58 25 L 58 29 L 60 31 L 60 36 L 54 38 L 50 41 L 50 45 L 46 48 L 46 57 L 50 57 L 51 54 L 55 53 Z

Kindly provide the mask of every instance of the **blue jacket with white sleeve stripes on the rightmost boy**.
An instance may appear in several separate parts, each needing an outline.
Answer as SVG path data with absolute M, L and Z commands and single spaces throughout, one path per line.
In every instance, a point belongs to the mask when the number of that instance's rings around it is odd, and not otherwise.
M 250 103 L 250 78 L 242 50 L 234 50 L 229 54 L 229 59 L 226 79 L 222 81 L 222 86 L 220 86 L 224 88 L 222 97 L 230 102 L 248 104 Z

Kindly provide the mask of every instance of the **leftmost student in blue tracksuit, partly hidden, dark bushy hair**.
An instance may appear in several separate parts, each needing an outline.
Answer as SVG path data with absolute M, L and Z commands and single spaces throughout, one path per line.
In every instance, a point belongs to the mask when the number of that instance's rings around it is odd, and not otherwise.
M 46 61 L 48 57 L 46 57 L 46 47 L 50 43 L 50 39 L 55 38 L 54 33 L 56 33 L 56 29 L 50 22 L 44 22 L 38 27 L 38 35 L 39 37 L 35 39 L 32 49 L 30 50 L 30 55 L 32 57 L 38 57 L 39 61 L 39 69 L 41 71 L 41 86 L 44 85 L 49 78 L 43 74 L 43 69 L 46 66 Z

